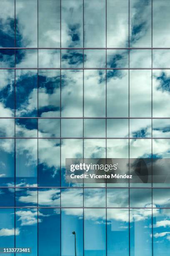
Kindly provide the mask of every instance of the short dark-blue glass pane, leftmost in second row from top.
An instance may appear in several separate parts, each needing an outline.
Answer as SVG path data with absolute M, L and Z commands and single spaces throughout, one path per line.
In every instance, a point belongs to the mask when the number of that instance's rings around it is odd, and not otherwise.
M 0 68 L 15 67 L 15 50 L 0 49 Z

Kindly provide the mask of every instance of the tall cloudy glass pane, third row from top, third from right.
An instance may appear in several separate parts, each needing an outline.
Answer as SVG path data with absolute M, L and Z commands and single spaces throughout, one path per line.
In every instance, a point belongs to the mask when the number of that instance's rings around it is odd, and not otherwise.
M 107 117 L 129 116 L 128 70 L 107 70 Z

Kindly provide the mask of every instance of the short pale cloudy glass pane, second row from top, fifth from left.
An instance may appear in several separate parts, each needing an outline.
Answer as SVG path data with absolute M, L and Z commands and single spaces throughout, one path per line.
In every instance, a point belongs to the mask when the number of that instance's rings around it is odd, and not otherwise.
M 85 68 L 105 68 L 106 50 L 84 50 Z

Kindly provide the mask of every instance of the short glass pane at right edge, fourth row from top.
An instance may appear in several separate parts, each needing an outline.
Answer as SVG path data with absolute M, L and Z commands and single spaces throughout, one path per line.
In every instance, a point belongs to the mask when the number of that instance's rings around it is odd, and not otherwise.
M 170 119 L 153 119 L 153 137 L 170 138 Z

